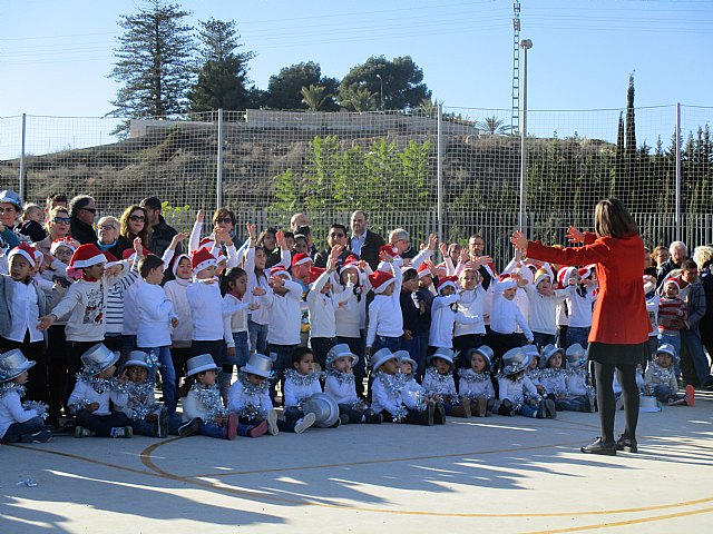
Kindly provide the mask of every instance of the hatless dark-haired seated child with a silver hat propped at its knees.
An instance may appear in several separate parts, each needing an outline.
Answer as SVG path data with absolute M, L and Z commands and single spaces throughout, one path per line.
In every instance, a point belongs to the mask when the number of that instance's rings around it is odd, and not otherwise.
M 309 348 L 295 348 L 292 366 L 294 368 L 285 372 L 283 415 L 285 422 L 292 425 L 292 432 L 301 434 L 316 421 L 314 414 L 302 412 L 302 402 L 315 393 L 322 393 L 322 385 L 320 374 L 314 370 L 314 355 Z

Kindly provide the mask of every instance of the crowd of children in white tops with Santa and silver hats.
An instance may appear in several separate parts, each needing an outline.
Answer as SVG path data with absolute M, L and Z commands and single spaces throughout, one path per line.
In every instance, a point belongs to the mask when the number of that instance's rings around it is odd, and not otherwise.
M 11 192 L 0 201 L 18 204 Z M 52 429 L 235 439 L 596 411 L 586 355 L 594 266 L 516 257 L 497 274 L 481 249 L 447 244 L 437 264 L 436 236 L 417 253 L 406 230 L 370 265 L 365 241 L 354 247 L 333 225 L 315 267 L 311 235 L 257 237 L 247 225 L 235 243 L 226 208 L 203 239 L 198 214 L 185 254 L 185 234 L 159 257 L 137 233 L 117 258 L 67 230 L 48 243 L 67 208 L 48 211 L 47 233 L 41 208 L 26 211 L 11 235 L 0 228 L 2 443 L 46 442 Z M 656 342 L 641 388 L 668 405 L 694 403 L 693 388 L 678 395 L 684 285 L 674 273 L 646 288 Z

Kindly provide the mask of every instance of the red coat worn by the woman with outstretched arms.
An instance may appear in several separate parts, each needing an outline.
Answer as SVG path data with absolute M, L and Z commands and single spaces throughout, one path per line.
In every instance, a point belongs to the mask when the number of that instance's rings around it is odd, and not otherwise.
M 599 297 L 594 305 L 589 342 L 636 345 L 648 340 L 651 320 L 644 296 L 644 241 L 585 234 L 585 246 L 558 249 L 527 244 L 528 258 L 563 265 L 596 264 Z

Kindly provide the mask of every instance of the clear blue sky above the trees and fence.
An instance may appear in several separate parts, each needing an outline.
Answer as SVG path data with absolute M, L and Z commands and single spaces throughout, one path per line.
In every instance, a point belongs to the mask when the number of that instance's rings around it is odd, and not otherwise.
M 497 115 L 509 121 L 510 0 L 179 3 L 193 12 L 192 22 L 237 22 L 245 49 L 257 52 L 250 77 L 261 88 L 281 67 L 300 61 L 316 61 L 324 75 L 341 78 L 369 56 L 410 55 L 445 106 L 504 109 Z M 110 111 L 117 21 L 140 4 L 1 0 L 0 117 Z M 624 107 L 632 71 L 637 107 L 713 106 L 712 14 L 710 0 L 522 0 L 521 37 L 534 42 L 529 108 Z

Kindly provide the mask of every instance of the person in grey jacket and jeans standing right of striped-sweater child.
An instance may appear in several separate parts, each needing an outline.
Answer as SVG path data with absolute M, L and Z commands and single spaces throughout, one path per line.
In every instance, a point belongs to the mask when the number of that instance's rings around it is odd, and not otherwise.
M 672 271 L 672 274 L 675 274 Z M 678 319 L 681 327 L 681 374 L 693 387 L 713 389 L 711 363 L 703 350 L 699 325 L 705 316 L 705 289 L 699 279 L 699 267 L 692 259 L 681 264 L 681 279 L 686 287 L 681 290 L 681 298 L 686 303 L 687 317 Z

